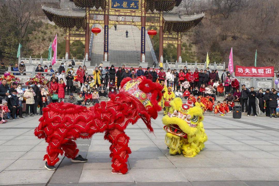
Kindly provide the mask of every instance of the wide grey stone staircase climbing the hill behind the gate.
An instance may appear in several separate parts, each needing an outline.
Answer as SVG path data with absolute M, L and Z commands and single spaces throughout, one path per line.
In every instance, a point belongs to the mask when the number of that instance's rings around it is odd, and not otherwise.
M 101 32 L 94 35 L 91 51 L 91 66 L 99 65 L 103 61 L 104 54 L 104 29 L 96 24 Z M 126 30 L 128 30 L 128 38 L 126 38 Z M 133 25 L 117 25 L 109 29 L 109 61 L 116 67 L 123 64 L 126 67 L 138 67 L 141 56 L 141 31 Z M 145 62 L 152 67 L 153 59 L 148 44 L 145 45 Z

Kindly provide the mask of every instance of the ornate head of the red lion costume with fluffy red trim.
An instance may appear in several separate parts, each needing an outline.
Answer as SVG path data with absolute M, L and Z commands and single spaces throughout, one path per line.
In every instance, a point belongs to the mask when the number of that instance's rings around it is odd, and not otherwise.
M 136 97 L 145 106 L 150 117 L 157 118 L 158 112 L 162 109 L 158 105 L 162 97 L 162 86 L 159 83 L 140 76 L 137 79 L 124 78 L 121 87 L 119 92 L 126 92 Z

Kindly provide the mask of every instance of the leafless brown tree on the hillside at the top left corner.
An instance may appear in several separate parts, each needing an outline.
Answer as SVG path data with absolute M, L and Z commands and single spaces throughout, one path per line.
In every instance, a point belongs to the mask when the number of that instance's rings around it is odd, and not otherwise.
M 8 0 L 5 4 L 17 21 L 20 37 L 24 38 L 29 28 L 30 17 L 37 9 L 35 0 Z

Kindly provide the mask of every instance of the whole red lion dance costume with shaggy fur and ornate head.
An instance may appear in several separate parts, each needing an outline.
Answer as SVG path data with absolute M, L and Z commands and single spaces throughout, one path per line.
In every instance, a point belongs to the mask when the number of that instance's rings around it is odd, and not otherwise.
M 121 81 L 119 94 L 112 95 L 109 102 L 101 102 L 86 108 L 71 103 L 51 103 L 43 109 L 40 124 L 35 128 L 35 136 L 45 138 L 48 143 L 44 160 L 54 166 L 58 155 L 65 153 L 75 158 L 78 149 L 74 140 L 88 139 L 97 132 L 105 132 L 104 139 L 111 142 L 110 157 L 112 173 L 128 172 L 127 160 L 131 149 L 129 137 L 124 130 L 128 124 L 142 119 L 148 130 L 153 132 L 150 118 L 157 118 L 161 107 L 162 86 L 140 76 L 138 79 L 125 78 Z

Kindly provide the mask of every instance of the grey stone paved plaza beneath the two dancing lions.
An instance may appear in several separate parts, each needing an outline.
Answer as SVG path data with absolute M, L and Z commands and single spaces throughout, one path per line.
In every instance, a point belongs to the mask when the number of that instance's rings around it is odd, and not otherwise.
M 155 135 L 140 120 L 126 129 L 132 150 L 126 175 L 111 174 L 109 142 L 103 134 L 77 141 L 88 162 L 72 163 L 60 156 L 57 170 L 46 170 L 42 161 L 45 141 L 33 135 L 38 119 L 0 125 L 0 185 L 279 185 L 279 124 L 275 118 L 205 116 L 208 141 L 194 158 L 169 155 L 162 117 L 152 120 Z

